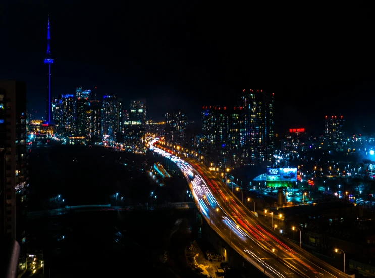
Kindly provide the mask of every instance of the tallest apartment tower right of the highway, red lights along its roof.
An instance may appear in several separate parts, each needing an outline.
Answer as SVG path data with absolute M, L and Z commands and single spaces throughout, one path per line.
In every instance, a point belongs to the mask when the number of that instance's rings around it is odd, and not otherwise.
M 238 101 L 241 111 L 241 164 L 271 165 L 274 150 L 274 94 L 263 90 L 242 91 Z

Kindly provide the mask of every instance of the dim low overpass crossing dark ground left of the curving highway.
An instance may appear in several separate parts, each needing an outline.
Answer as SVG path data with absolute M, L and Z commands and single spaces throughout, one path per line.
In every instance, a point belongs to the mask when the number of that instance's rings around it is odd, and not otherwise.
M 106 205 L 77 205 L 65 206 L 63 208 L 47 209 L 40 211 L 33 211 L 27 213 L 27 220 L 35 220 L 42 217 L 64 215 L 72 212 L 94 212 L 94 211 L 133 211 L 133 210 L 160 210 L 160 209 L 195 209 L 194 203 L 168 203 L 156 204 L 152 206 L 137 205 L 137 206 L 111 206 Z

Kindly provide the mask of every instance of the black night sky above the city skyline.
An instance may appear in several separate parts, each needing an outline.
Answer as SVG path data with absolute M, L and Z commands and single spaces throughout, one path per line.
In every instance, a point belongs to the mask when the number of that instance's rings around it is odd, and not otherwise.
M 43 117 L 49 14 L 52 96 L 97 86 L 97 98 L 117 95 L 127 109 L 146 98 L 148 119 L 176 108 L 198 121 L 202 106 L 263 89 L 275 93 L 278 133 L 323 134 L 325 115 L 343 115 L 347 135 L 375 133 L 370 9 L 231 5 L 6 1 L 0 79 L 26 81 L 28 106 Z

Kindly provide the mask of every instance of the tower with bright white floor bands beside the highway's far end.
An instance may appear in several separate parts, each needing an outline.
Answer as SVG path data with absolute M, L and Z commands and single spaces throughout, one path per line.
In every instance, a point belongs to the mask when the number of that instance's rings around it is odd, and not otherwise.
M 132 148 L 141 148 L 145 140 L 146 100 L 131 100 L 129 121 L 124 122 L 124 142 Z

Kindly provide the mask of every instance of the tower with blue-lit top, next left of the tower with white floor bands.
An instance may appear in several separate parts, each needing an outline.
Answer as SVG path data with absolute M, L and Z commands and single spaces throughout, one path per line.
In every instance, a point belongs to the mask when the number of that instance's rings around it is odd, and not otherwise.
M 120 101 L 121 102 L 121 101 Z M 102 137 L 110 141 L 116 141 L 116 135 L 120 132 L 120 123 L 122 125 L 122 119 L 120 121 L 119 117 L 119 108 L 122 105 L 119 104 L 119 101 L 116 96 L 105 95 L 103 97 L 103 108 L 101 113 L 101 129 Z M 122 118 L 122 114 L 121 114 Z M 120 121 L 120 123 L 119 123 Z

